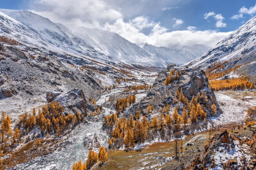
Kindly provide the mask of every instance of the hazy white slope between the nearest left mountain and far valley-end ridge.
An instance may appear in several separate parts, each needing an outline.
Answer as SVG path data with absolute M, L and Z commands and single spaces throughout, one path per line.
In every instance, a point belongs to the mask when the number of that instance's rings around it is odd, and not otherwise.
M 114 61 L 148 65 L 149 61 L 157 62 L 145 50 L 124 39 L 114 32 L 96 28 L 85 28 L 77 25 L 67 25 L 76 35 L 82 37 L 97 51 L 105 53 Z M 157 66 L 162 67 L 161 63 Z

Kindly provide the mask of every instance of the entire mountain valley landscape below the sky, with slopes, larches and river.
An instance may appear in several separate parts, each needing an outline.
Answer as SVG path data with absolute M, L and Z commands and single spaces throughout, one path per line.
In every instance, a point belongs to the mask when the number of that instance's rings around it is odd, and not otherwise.
M 0 169 L 254 169 L 255 24 L 158 47 L 0 9 Z

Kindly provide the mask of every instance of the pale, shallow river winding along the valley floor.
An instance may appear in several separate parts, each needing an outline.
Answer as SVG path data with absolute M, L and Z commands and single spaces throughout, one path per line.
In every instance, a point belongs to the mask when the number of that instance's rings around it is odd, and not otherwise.
M 153 84 L 156 77 L 143 77 L 141 78 L 148 84 Z M 132 82 L 134 83 L 134 82 Z M 118 96 L 124 92 L 124 87 L 126 85 L 135 85 L 131 83 L 121 84 L 118 88 L 112 89 L 109 93 L 103 93 L 102 96 L 97 100 L 98 105 L 103 105 L 105 101 L 108 101 L 108 98 L 111 96 Z M 144 96 L 147 95 L 147 92 L 144 90 L 139 90 L 136 94 L 136 102 L 139 102 Z M 52 153 L 47 155 L 36 157 L 28 162 L 18 164 L 13 169 L 71 169 L 71 166 L 74 162 L 78 160 L 86 161 L 89 147 L 87 146 L 88 141 L 92 141 L 93 138 L 97 137 L 98 142 L 94 143 L 97 145 L 103 145 L 104 147 L 108 146 L 108 135 L 106 131 L 102 130 L 102 123 L 104 116 L 108 114 L 115 113 L 116 111 L 112 107 L 104 107 L 102 114 L 96 116 L 97 120 L 92 119 L 88 124 L 83 124 L 80 127 L 76 127 L 70 134 L 65 136 L 63 140 L 57 143 L 57 149 Z M 92 147 L 94 151 L 98 152 L 97 147 Z M 26 155 L 25 156 L 29 156 Z M 12 165 L 19 163 L 14 158 L 12 160 Z

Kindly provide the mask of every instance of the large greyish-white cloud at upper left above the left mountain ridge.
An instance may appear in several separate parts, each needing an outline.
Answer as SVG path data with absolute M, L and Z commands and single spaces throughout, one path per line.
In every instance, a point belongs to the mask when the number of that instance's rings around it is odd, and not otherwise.
M 102 0 L 34 0 L 33 12 L 63 24 L 99 27 L 106 22 L 123 18 L 121 12 Z

